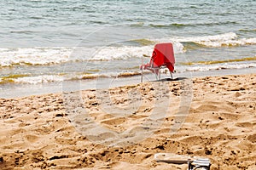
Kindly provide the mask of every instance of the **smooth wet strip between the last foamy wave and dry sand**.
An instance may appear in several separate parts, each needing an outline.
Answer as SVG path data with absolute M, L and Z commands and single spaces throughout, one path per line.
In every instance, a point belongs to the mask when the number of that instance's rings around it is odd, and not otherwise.
M 185 73 L 174 73 L 173 77 L 214 77 L 214 76 L 228 76 L 228 75 L 243 75 L 256 72 L 256 68 L 246 69 L 228 69 L 228 70 L 214 70 L 214 71 L 188 71 Z M 163 79 L 169 75 L 163 74 Z M 154 81 L 154 74 L 146 74 L 144 82 Z M 63 91 L 86 90 L 91 88 L 113 88 L 131 84 L 140 83 L 141 76 L 134 77 L 117 77 L 117 78 L 98 78 L 80 81 L 67 82 L 48 82 L 42 84 L 7 84 L 0 86 L 0 96 L 3 99 L 21 98 L 30 95 L 43 94 L 59 94 Z M 79 87 L 79 88 L 78 88 Z M 63 90 L 63 88 L 65 88 Z

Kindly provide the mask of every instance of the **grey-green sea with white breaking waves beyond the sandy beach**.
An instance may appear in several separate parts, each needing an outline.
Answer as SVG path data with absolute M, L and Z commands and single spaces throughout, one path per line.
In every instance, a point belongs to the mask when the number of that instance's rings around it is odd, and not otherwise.
M 255 0 L 9 0 L 0 6 L 1 97 L 58 92 L 63 84 L 73 90 L 78 82 L 79 88 L 140 82 L 139 65 L 159 42 L 173 43 L 177 77 L 256 68 Z

